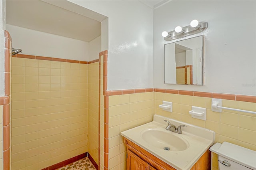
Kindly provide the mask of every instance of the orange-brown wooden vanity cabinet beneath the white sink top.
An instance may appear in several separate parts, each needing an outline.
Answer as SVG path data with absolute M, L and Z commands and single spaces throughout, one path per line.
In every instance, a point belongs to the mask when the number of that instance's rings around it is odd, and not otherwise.
M 127 170 L 176 170 L 140 146 L 124 138 L 127 147 Z M 190 170 L 210 170 L 211 152 L 206 152 Z

